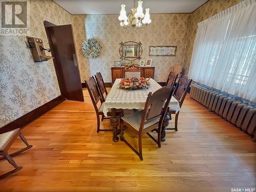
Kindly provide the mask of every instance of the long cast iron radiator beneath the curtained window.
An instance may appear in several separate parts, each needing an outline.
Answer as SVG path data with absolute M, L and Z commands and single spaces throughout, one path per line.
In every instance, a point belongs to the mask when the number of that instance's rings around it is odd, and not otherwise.
M 256 141 L 256 103 L 198 82 L 191 84 L 190 98 L 254 136 L 252 140 Z

